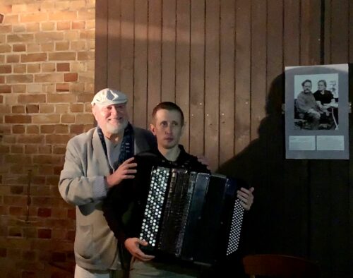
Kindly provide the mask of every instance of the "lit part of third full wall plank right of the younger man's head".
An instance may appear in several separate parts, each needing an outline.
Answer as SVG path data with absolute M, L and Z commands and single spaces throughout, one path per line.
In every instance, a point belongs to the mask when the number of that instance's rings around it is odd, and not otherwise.
M 235 1 L 220 1 L 220 164 L 234 154 Z

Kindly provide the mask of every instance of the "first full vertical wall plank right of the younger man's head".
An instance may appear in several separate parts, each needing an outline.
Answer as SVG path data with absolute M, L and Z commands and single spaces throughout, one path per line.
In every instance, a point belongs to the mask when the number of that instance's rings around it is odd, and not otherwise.
M 204 152 L 205 2 L 191 1 L 190 141 L 193 155 Z

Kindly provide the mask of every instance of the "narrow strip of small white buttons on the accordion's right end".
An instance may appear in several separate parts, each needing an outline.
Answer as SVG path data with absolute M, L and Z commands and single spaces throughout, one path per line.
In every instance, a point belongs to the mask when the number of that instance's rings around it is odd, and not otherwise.
M 233 214 L 232 214 L 232 224 L 229 232 L 227 255 L 232 254 L 234 251 L 238 249 L 243 214 L 244 214 L 244 208 L 241 207 L 240 200 L 237 199 L 235 200 Z

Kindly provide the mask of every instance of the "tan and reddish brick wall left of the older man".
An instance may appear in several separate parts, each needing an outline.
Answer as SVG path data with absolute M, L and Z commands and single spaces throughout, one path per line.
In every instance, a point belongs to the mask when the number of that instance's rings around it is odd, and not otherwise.
M 95 0 L 0 13 L 0 277 L 72 277 L 75 212 L 57 183 L 68 139 L 93 123 Z

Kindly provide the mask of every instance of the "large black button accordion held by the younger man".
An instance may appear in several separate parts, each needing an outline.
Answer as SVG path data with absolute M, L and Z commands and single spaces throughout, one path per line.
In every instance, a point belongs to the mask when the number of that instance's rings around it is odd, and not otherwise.
M 213 265 L 239 245 L 244 208 L 239 181 L 217 174 L 154 167 L 140 228 L 143 252 Z

